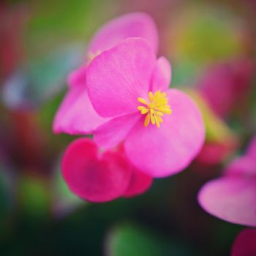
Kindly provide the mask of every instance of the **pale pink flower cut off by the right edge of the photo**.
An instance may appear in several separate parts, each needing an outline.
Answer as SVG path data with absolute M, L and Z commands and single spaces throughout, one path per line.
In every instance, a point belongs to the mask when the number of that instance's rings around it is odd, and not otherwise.
M 256 137 L 246 154 L 227 166 L 225 175 L 200 189 L 200 206 L 227 222 L 256 226 Z

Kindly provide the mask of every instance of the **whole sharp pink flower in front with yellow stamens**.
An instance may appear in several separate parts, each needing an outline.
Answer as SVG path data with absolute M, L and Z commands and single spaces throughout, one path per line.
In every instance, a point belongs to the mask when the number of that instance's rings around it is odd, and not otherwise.
M 86 70 L 89 98 L 99 116 L 111 118 L 94 132 L 103 148 L 124 141 L 135 167 L 153 177 L 189 165 L 203 145 L 205 129 L 186 94 L 168 89 L 170 64 L 156 59 L 146 40 L 129 38 L 99 54 Z

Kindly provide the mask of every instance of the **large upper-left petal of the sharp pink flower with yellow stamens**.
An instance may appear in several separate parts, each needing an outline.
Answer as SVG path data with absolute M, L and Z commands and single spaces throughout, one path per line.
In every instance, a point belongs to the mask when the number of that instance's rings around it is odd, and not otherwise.
M 146 97 L 156 57 L 144 39 L 129 38 L 99 54 L 86 72 L 89 97 L 103 117 L 134 113 Z

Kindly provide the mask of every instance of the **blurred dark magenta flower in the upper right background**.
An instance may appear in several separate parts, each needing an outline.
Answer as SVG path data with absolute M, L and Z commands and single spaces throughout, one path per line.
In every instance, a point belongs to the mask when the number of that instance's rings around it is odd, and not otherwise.
M 199 89 L 215 113 L 225 117 L 235 108 L 242 108 L 251 82 L 252 62 L 236 59 L 209 68 L 200 81 Z

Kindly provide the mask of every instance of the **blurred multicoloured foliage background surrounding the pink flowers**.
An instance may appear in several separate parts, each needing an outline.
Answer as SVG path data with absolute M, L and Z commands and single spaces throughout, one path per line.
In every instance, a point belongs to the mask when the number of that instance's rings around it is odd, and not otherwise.
M 53 135 L 67 74 L 103 23 L 147 12 L 172 86 L 206 121 L 187 170 L 133 198 L 86 203 L 60 174 L 75 137 Z M 197 192 L 256 134 L 256 1 L 0 1 L 0 255 L 229 255 L 243 228 L 206 214 Z

